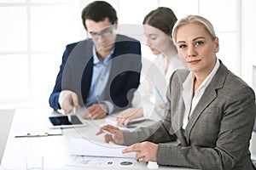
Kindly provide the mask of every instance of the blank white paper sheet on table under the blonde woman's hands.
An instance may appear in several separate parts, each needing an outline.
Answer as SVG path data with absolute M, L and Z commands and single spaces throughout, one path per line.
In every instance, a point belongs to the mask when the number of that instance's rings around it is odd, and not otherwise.
M 75 156 L 105 156 L 134 159 L 137 152 L 123 154 L 122 150 L 125 148 L 126 146 L 117 144 L 107 144 L 87 139 L 71 139 L 70 154 Z

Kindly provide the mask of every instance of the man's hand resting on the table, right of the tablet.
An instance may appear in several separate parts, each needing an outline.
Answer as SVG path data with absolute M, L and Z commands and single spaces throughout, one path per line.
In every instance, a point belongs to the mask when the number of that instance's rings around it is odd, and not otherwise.
M 94 104 L 87 108 L 84 113 L 85 119 L 101 119 L 107 116 L 108 106 L 105 104 Z

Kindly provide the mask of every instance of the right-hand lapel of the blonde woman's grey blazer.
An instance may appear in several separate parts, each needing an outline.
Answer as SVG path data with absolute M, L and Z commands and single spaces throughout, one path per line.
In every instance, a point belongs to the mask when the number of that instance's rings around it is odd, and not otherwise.
M 198 118 L 201 116 L 201 114 L 207 108 L 207 106 L 212 103 L 212 100 L 217 97 L 217 89 L 223 87 L 226 75 L 227 75 L 227 68 L 220 61 L 218 71 L 216 72 L 215 76 L 212 78 L 212 82 L 210 82 L 210 84 L 206 88 L 204 94 L 201 96 L 200 101 L 195 106 L 195 110 L 190 116 L 188 125 L 185 130 L 185 135 L 187 137 L 188 144 L 189 144 L 189 135 L 191 133 L 192 128 L 195 125 L 195 122 L 198 120 Z

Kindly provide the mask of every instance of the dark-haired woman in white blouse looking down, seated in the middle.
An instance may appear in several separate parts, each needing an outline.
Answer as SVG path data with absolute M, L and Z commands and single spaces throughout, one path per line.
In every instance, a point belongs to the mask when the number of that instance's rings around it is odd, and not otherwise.
M 156 8 L 145 16 L 143 29 L 147 45 L 157 57 L 153 62 L 143 60 L 143 65 L 151 66 L 147 74 L 143 75 L 145 79 L 132 99 L 132 107 L 117 116 L 118 125 L 126 126 L 131 120 L 142 116 L 159 120 L 164 115 L 169 79 L 175 70 L 183 68 L 177 48 L 172 42 L 172 28 L 176 21 L 172 9 L 166 7 Z

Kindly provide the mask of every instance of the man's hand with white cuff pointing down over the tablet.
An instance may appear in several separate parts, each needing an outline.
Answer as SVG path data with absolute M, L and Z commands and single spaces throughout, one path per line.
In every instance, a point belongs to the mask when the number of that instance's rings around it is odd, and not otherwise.
M 80 108 L 78 95 L 70 90 L 61 91 L 59 96 L 59 103 L 65 114 L 73 111 L 74 107 Z

